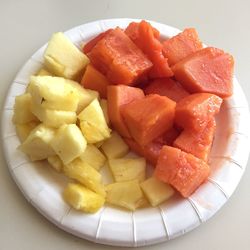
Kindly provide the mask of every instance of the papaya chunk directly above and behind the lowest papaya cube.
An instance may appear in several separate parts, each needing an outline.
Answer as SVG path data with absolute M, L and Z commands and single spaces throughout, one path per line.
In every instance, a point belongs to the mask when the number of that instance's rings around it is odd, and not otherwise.
M 215 128 L 216 122 L 213 118 L 201 132 L 184 130 L 173 142 L 173 146 L 207 162 L 213 143 Z

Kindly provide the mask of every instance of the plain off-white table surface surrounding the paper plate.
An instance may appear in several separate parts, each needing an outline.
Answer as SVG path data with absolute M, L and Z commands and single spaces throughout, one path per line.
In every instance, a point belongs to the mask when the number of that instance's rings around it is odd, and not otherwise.
M 249 0 L 1 0 L 0 106 L 19 68 L 53 32 L 118 17 L 145 18 L 180 29 L 195 27 L 204 43 L 233 54 L 235 73 L 250 100 L 249 11 Z M 2 148 L 0 161 L 0 250 L 112 248 L 74 237 L 48 222 L 11 179 Z M 237 190 L 212 219 L 182 237 L 142 249 L 249 250 L 249 183 L 248 163 Z

